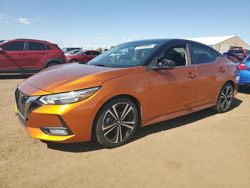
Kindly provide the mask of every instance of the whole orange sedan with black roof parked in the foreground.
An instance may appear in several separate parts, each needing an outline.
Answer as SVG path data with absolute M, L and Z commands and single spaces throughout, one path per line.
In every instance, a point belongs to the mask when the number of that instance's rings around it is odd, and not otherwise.
M 58 65 L 20 83 L 18 116 L 34 138 L 105 147 L 138 127 L 213 107 L 230 109 L 237 66 L 214 49 L 181 39 L 118 45 L 88 64 Z

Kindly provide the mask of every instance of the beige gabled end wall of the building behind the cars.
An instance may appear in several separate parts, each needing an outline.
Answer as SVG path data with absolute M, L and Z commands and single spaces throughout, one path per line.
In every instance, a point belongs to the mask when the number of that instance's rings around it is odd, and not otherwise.
M 239 46 L 250 50 L 250 46 L 239 37 L 235 36 L 215 45 L 215 49 L 221 53 L 227 52 L 230 46 Z

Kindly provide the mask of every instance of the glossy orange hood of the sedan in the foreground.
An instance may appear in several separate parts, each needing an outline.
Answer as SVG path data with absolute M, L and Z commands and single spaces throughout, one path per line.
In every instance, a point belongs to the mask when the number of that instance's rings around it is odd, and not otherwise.
M 28 78 L 29 84 L 49 93 L 60 93 L 101 86 L 105 81 L 129 73 L 130 68 L 99 67 L 83 64 L 53 66 Z

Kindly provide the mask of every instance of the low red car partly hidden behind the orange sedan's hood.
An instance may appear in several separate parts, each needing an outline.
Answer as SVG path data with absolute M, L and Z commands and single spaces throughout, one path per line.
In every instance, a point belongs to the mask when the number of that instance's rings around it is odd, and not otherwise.
M 101 53 L 96 50 L 80 50 L 76 53 L 70 53 L 66 55 L 67 63 L 87 63 L 91 59 L 95 58 L 96 56 L 100 55 Z

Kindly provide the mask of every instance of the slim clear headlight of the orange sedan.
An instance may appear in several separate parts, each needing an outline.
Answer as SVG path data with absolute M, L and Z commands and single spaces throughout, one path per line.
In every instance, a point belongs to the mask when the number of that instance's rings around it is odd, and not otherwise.
M 90 97 L 98 89 L 100 89 L 100 87 L 93 87 L 78 91 L 70 91 L 67 93 L 45 95 L 42 96 L 39 101 L 43 104 L 70 104 Z

